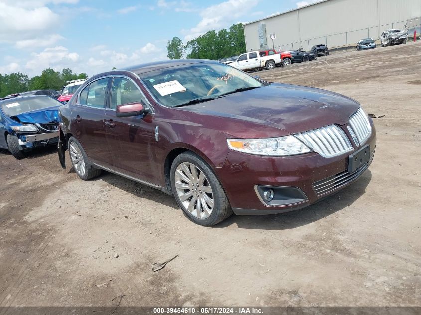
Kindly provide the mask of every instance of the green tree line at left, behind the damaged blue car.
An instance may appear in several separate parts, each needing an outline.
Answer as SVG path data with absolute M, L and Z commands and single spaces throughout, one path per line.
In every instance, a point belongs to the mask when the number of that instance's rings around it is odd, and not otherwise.
M 9 75 L 0 73 L 0 98 L 13 93 L 20 93 L 32 90 L 61 90 L 66 81 L 85 79 L 86 73 L 76 74 L 70 68 L 61 72 L 48 68 L 42 71 L 41 75 L 31 79 L 21 72 L 14 72 Z

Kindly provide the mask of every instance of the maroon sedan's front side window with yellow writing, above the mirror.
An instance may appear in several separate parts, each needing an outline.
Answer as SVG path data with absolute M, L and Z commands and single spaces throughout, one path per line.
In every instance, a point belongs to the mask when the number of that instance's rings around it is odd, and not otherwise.
M 116 109 L 117 105 L 141 102 L 142 100 L 142 94 L 131 80 L 121 77 L 114 78 L 111 87 L 111 109 Z

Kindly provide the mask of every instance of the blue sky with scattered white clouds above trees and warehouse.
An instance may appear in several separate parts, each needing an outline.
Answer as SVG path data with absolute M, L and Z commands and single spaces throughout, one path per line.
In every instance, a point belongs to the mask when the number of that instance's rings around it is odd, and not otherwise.
M 186 42 L 314 0 L 0 0 L 0 73 L 29 77 L 48 67 L 89 76 L 166 59 L 173 36 Z M 267 5 L 270 3 L 270 5 Z

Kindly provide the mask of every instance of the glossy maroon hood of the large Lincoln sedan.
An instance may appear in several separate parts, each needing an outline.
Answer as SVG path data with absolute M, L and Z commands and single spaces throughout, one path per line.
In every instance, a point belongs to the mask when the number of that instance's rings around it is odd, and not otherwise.
M 236 120 L 236 125 L 241 121 L 249 128 L 263 130 L 264 125 L 278 129 L 278 133 L 281 129 L 284 134 L 292 134 L 330 124 L 346 124 L 359 106 L 355 100 L 334 92 L 272 83 L 181 108 L 211 117 L 230 118 Z M 262 137 L 269 133 L 262 132 Z

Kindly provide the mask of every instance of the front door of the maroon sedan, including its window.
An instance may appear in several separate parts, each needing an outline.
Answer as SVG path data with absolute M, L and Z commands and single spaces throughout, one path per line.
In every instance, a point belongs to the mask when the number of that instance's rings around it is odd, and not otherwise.
M 145 116 L 117 117 L 116 106 L 141 102 L 152 109 L 138 86 L 128 77 L 116 76 L 111 85 L 109 108 L 104 114 L 105 133 L 115 170 L 156 184 L 155 126 L 153 113 Z

